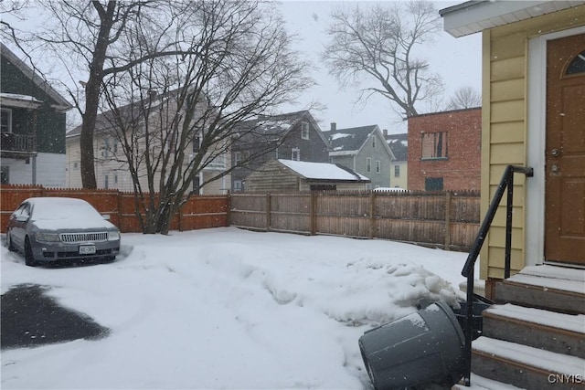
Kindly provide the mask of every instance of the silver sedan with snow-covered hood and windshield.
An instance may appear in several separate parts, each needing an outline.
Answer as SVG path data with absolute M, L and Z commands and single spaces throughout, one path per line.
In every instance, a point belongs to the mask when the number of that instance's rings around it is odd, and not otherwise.
M 84 200 L 32 197 L 10 216 L 6 246 L 23 253 L 27 266 L 63 259 L 114 260 L 120 230 Z

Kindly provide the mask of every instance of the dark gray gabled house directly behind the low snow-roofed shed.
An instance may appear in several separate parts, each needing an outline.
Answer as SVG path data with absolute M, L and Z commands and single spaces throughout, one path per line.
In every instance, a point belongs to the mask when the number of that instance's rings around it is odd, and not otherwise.
M 271 160 L 327 163 L 329 142 L 310 111 L 260 115 L 239 126 L 243 133 L 231 148 L 233 192 L 248 191 L 247 177 Z

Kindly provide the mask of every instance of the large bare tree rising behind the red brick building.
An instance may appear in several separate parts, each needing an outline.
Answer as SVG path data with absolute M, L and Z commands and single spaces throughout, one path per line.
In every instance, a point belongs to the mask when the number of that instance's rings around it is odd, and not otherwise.
M 323 59 L 343 86 L 366 85 L 360 100 L 380 94 L 403 119 L 416 115 L 417 103 L 442 92 L 439 76 L 415 49 L 440 30 L 430 1 L 392 2 L 364 9 L 337 10 Z

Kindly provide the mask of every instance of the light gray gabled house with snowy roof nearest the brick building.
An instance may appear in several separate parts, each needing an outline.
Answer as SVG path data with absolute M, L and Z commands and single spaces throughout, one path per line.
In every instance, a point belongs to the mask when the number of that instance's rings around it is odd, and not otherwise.
M 331 142 L 331 163 L 344 165 L 370 179 L 368 189 L 390 186 L 390 166 L 394 154 L 377 124 L 325 132 Z

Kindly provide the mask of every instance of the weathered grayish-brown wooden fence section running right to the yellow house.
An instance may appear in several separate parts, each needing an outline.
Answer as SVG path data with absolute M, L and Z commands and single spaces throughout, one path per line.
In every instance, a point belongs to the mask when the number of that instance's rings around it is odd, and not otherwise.
M 479 193 L 232 194 L 230 225 L 267 231 L 384 238 L 468 251 Z

